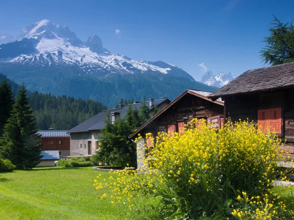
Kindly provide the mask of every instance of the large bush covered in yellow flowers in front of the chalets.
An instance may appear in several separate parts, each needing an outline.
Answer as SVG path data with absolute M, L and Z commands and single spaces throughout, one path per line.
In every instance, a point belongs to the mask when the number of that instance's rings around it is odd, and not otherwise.
M 264 134 L 248 122 L 213 130 L 205 120 L 193 120 L 183 135 L 159 133 L 156 144 L 146 148 L 145 166 L 137 172 L 114 172 L 117 176 L 110 177 L 110 184 L 96 180 L 94 185 L 109 187 L 112 204 L 131 204 L 151 195 L 161 198 L 158 208 L 170 217 L 239 218 L 248 213 L 247 198 L 266 198 L 280 175 L 279 144 L 276 135 Z

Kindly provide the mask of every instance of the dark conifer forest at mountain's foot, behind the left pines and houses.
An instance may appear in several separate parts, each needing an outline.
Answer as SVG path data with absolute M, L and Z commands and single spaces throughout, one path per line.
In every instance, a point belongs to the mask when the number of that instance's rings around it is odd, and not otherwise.
M 0 82 L 6 79 L 14 95 L 17 94 L 20 86 L 0 74 Z M 30 105 L 36 118 L 37 129 L 47 130 L 68 130 L 107 109 L 105 105 L 97 101 L 67 96 L 55 96 L 40 92 L 28 92 Z

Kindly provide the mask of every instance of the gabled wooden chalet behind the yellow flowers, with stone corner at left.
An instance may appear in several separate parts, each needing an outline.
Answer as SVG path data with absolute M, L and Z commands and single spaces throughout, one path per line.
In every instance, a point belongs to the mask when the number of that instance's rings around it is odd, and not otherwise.
M 221 99 L 212 101 L 207 96 L 211 92 L 187 89 L 163 110 L 147 121 L 129 138 L 135 139 L 140 133 L 143 137 L 146 133 L 152 133 L 155 137 L 158 132 L 181 132 L 184 125 L 193 118 L 207 119 L 212 116 L 223 117 L 223 102 Z M 151 143 L 147 143 L 148 144 Z M 140 154 L 139 154 L 140 152 Z M 145 138 L 139 139 L 137 143 L 138 167 L 143 167 L 142 157 L 145 155 Z

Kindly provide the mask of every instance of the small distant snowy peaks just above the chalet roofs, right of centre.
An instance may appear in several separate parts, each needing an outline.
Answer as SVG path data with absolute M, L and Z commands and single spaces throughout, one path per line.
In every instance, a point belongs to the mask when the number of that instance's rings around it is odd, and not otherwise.
M 202 79 L 200 82 L 208 86 L 221 88 L 227 85 L 229 82 L 231 82 L 235 78 L 236 76 L 234 76 L 231 72 L 229 73 L 220 72 L 217 76 L 214 76 L 211 71 L 207 71 L 202 76 Z

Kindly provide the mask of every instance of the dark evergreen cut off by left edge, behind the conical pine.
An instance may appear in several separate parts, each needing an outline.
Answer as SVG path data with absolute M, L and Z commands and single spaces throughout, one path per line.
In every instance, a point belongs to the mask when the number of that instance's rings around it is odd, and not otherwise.
M 0 136 L 3 134 L 3 128 L 6 124 L 13 105 L 13 93 L 10 86 L 3 80 L 0 84 Z

